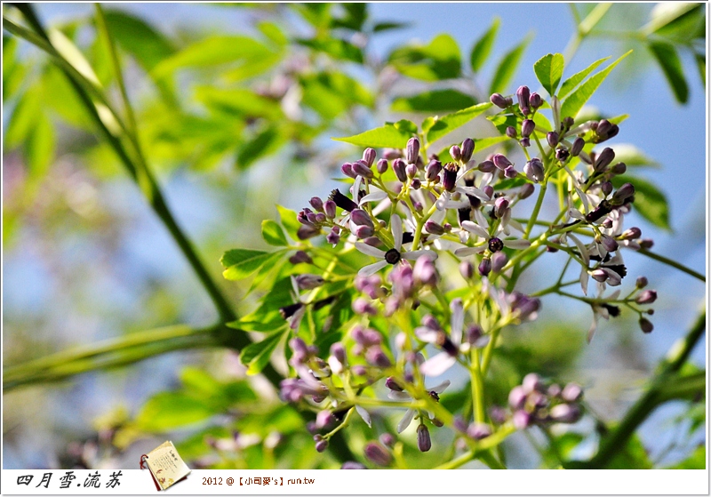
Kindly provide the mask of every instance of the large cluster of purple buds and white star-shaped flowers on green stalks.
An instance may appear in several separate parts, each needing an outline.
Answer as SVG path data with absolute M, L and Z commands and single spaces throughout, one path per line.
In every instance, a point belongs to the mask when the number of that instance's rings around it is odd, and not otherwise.
M 456 367 L 482 388 L 501 330 L 535 319 L 540 297 L 547 293 L 590 306 L 594 324 L 588 341 L 599 317 L 619 316 L 623 307 L 639 315 L 644 333 L 651 332 L 644 315 L 653 310 L 640 306 L 651 304 L 657 294 L 644 289 L 646 278 L 638 278 L 625 297 L 619 288 L 606 294 L 608 286 L 619 287 L 627 276 L 624 251 L 651 246 L 639 228 L 623 228 L 635 202 L 634 186 L 619 180 L 626 165 L 615 162 L 613 148 L 595 149 L 615 137 L 619 125 L 607 119 L 577 123 L 561 116 L 555 96 L 546 102 L 526 86 L 514 97 L 491 95 L 491 102 L 506 118 L 500 131 L 525 156 L 523 167 L 509 158 L 510 149 L 477 162 L 473 139 L 440 156 L 427 155 L 429 144 L 422 142 L 426 135 L 419 134 L 402 150 L 386 150 L 380 158 L 375 149 L 366 148 L 362 158 L 340 168 L 353 180 L 347 191 L 337 188 L 328 198 L 315 196 L 297 216 L 304 244 L 292 256 L 294 264 L 315 264 L 309 251 L 319 243 L 308 239 L 316 236 L 325 236 L 331 245 L 333 265 L 356 251 L 362 254 L 358 268 L 339 275 L 352 282 L 354 293 L 342 340 L 332 343 L 324 356 L 305 336 L 290 341 L 296 376 L 283 381 L 281 397 L 316 412 L 309 429 L 318 451 L 326 449 L 352 413 L 371 425 L 371 413 L 405 409 L 394 431 L 403 433 L 419 420 L 415 432 L 422 452 L 432 445 L 429 427 L 443 424 L 465 434 L 474 449 L 504 426 L 578 421 L 579 386 L 545 386 L 533 373 L 511 391 L 510 413 L 492 409 L 488 421 L 482 414 L 483 398 L 473 399 L 479 403 L 475 419 L 465 421 L 439 402 L 450 381 L 426 383 L 426 376 L 438 377 Z M 542 108 L 551 110 L 552 129 L 538 117 Z M 544 221 L 539 212 L 547 188 L 557 189 L 561 209 L 554 220 Z M 526 202 L 537 191 L 535 203 Z M 516 214 L 523 209 L 529 213 Z M 561 252 L 568 261 L 555 285 L 531 295 L 515 290 L 532 262 Z M 445 254 L 459 264 L 461 279 L 443 274 L 439 260 Z M 564 281 L 569 266 L 576 264 L 575 279 Z M 281 310 L 297 335 L 309 306 L 331 303 L 328 297 L 302 300 L 300 291 L 318 288 L 334 274 L 332 266 L 323 274 L 293 277 L 296 303 Z M 595 297 L 588 295 L 591 278 Z M 575 284 L 582 295 L 564 291 Z M 389 433 L 383 437 L 365 446 L 364 457 L 387 467 L 393 464 L 396 442 Z

